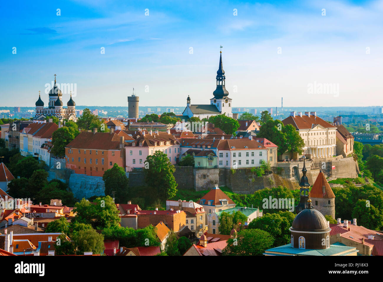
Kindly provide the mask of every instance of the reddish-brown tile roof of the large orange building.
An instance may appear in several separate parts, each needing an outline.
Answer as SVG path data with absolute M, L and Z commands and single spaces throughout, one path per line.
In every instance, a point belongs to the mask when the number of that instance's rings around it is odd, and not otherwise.
M 82 132 L 65 148 L 92 150 L 119 150 L 119 136 L 106 132 Z

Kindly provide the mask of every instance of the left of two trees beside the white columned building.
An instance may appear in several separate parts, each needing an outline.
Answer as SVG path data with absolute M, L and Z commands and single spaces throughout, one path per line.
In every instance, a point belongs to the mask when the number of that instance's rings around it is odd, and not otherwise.
M 280 120 L 269 120 L 261 126 L 257 137 L 266 138 L 278 146 L 278 154 L 284 154 L 287 149 L 287 140 L 283 133 L 283 123 Z

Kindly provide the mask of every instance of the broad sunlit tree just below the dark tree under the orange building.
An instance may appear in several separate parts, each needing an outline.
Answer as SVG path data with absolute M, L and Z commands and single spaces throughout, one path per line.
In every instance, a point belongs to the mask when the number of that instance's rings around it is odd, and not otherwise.
M 90 224 L 93 228 L 104 229 L 120 223 L 116 205 L 110 196 L 97 198 L 94 203 L 83 198 L 75 203 L 73 211 L 76 213 L 75 221 Z

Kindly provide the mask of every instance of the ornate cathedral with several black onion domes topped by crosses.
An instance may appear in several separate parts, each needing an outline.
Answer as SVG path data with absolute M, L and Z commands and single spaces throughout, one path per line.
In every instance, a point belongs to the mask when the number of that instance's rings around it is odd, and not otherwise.
M 62 92 L 56 85 L 56 74 L 54 75 L 54 86 L 49 91 L 49 103 L 48 107 L 44 108 L 44 102 L 41 100 L 39 94 L 39 100 L 36 102 L 36 115 L 34 120 L 43 120 L 48 116 L 56 116 L 60 121 L 62 120 L 71 120 L 76 122 L 76 103 L 72 100 L 72 94 L 70 94 L 70 99 L 67 103 L 67 108 L 62 107 Z

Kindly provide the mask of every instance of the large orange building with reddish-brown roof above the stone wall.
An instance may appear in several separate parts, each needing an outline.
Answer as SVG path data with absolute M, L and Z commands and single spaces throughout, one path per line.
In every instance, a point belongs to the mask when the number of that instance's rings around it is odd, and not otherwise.
M 82 132 L 65 146 L 66 168 L 77 174 L 103 176 L 116 163 L 125 167 L 124 137 L 114 132 Z

